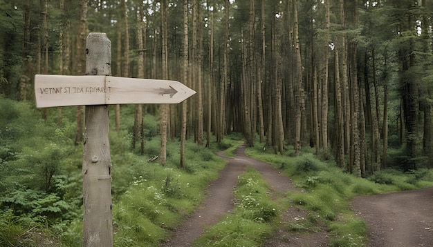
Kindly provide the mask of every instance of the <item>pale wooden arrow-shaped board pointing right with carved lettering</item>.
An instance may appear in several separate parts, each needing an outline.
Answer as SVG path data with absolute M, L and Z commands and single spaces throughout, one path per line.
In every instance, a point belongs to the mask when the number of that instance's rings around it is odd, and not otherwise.
M 195 93 L 178 81 L 104 75 L 35 75 L 37 108 L 180 103 Z

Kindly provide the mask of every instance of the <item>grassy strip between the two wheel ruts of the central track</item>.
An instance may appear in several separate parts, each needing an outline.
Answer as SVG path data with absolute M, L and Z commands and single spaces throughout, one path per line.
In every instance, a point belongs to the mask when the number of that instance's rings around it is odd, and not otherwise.
M 270 187 L 253 168 L 247 168 L 234 189 L 236 203 L 230 214 L 210 226 L 193 246 L 261 246 L 272 235 L 278 204 Z

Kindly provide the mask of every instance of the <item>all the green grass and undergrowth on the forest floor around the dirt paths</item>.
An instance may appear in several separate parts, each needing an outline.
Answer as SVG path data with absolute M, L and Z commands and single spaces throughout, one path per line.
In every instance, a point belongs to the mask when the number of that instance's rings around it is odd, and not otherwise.
M 50 246 L 81 246 L 82 146 L 73 146 L 75 108 L 62 108 L 63 125 L 57 126 L 55 108 L 47 109 L 48 119 L 42 121 L 40 110 L 26 103 L 0 98 L 0 105 L 4 106 L 0 108 L 0 245 L 43 246 L 41 241 L 46 241 Z M 225 150 L 225 155 L 233 157 L 233 150 L 243 144 L 243 139 L 239 134 L 224 137 L 220 144 L 212 139 L 211 148 L 189 141 L 185 147 L 185 168 L 178 167 L 179 142 L 169 141 L 167 164 L 160 166 L 158 159 L 147 161 L 159 154 L 157 117 L 145 115 L 147 139 L 145 155 L 141 156 L 138 148 L 131 150 L 132 112 L 133 106 L 122 107 L 118 131 L 113 130 L 110 119 L 114 242 L 116 246 L 158 246 L 169 237 L 169 230 L 178 227 L 201 204 L 205 188 L 225 166 L 225 161 L 213 152 Z M 272 201 L 264 179 L 255 170 L 248 170 L 239 177 L 239 186 L 234 190 L 237 204 L 232 213 L 209 228 L 197 246 L 260 246 L 277 226 L 279 209 L 288 206 L 307 211 L 305 219 L 290 222 L 288 230 L 308 232 L 322 228 L 329 232 L 331 246 L 366 246 L 367 226 L 350 209 L 353 197 L 433 186 L 433 170 L 423 166 L 407 172 L 389 168 L 360 179 L 337 168 L 331 160 L 317 159 L 311 149 L 302 150 L 297 157 L 293 148 L 289 149 L 284 155 L 275 155 L 273 150 L 256 146 L 246 153 L 282 169 L 303 192 L 291 192 Z M 53 177 L 57 194 L 46 196 L 36 190 L 45 181 L 37 172 L 52 164 L 57 169 Z M 21 199 L 20 204 L 12 204 L 12 194 L 5 188 L 14 188 L 13 195 L 28 195 L 33 200 L 23 197 L 27 201 Z M 56 199 L 57 204 L 48 199 Z M 44 203 L 42 208 L 69 207 L 66 213 L 55 217 L 33 217 L 30 213 L 40 212 L 41 208 L 27 207 L 35 206 L 35 202 Z

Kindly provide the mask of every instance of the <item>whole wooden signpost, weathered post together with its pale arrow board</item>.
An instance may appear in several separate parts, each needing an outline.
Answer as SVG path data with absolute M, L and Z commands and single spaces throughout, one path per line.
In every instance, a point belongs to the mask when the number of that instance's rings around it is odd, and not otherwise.
M 178 81 L 111 77 L 111 41 L 91 32 L 86 75 L 35 75 L 37 108 L 86 106 L 82 246 L 113 246 L 108 104 L 180 103 L 196 92 Z

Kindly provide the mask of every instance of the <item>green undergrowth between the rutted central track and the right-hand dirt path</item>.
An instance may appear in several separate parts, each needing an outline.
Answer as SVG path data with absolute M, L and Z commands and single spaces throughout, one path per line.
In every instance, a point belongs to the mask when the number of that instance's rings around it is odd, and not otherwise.
M 295 156 L 293 152 L 275 155 L 264 148 L 248 148 L 250 157 L 266 161 L 291 177 L 300 192 L 288 193 L 293 206 L 307 210 L 304 221 L 289 224 L 288 230 L 305 231 L 323 228 L 329 232 L 329 246 L 368 246 L 367 224 L 351 210 L 351 199 L 358 195 L 375 195 L 433 186 L 432 170 L 400 172 L 387 169 L 362 179 L 321 161 L 308 150 Z

